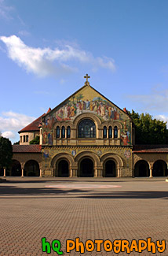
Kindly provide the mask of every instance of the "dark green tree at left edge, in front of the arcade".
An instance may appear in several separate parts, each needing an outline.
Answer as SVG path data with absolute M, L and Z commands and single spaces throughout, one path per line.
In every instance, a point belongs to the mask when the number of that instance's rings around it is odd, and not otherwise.
M 0 136 L 0 167 L 8 168 L 13 158 L 13 147 L 9 139 Z

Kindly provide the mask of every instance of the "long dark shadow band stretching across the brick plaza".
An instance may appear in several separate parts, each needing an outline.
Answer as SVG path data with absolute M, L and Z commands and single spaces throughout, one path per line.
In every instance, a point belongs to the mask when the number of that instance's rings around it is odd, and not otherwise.
M 60 189 L 56 187 L 14 187 L 14 186 L 0 186 L 0 195 L 5 195 L 6 198 L 15 198 L 15 196 L 20 196 L 20 198 L 24 198 L 24 196 L 37 196 L 42 195 L 49 198 L 53 198 L 55 196 L 58 198 L 61 196 L 62 198 L 94 198 L 94 199 L 148 199 L 148 198 L 168 198 L 168 191 L 92 191 L 86 189 Z M 1 197 L 4 198 L 4 197 Z M 26 198 L 26 197 L 25 197 Z

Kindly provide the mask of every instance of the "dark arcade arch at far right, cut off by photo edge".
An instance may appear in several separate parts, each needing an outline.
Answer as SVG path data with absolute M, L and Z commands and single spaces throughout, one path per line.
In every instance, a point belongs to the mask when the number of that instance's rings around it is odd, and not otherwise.
M 152 176 L 167 176 L 167 165 L 163 160 L 155 161 L 152 170 Z

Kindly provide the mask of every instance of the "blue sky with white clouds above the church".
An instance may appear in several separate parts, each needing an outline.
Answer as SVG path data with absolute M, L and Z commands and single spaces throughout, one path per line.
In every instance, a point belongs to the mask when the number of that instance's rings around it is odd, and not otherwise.
M 0 131 L 17 131 L 90 84 L 168 121 L 167 0 L 0 0 Z

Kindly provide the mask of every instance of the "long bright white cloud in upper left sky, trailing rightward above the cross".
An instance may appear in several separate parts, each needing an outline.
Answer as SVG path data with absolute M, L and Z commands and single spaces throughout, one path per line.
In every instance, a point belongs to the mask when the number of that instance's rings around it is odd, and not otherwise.
M 76 72 L 79 64 L 115 72 L 115 61 L 112 58 L 94 58 L 93 54 L 75 46 L 65 45 L 63 49 L 57 47 L 52 50 L 49 47 L 42 49 L 27 46 L 16 35 L 1 36 L 0 39 L 7 47 L 9 58 L 37 76 L 63 76 Z

